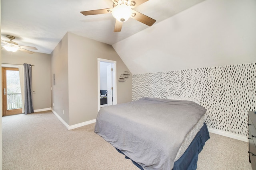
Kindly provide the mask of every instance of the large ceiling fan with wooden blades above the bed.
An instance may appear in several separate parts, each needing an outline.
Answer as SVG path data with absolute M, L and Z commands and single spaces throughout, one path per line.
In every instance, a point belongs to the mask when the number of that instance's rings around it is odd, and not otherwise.
M 116 18 L 116 24 L 114 32 L 120 32 L 122 29 L 123 22 L 127 21 L 129 18 L 140 21 L 148 26 L 153 25 L 156 20 L 141 14 L 132 8 L 147 2 L 148 0 L 112 0 L 113 8 L 106 8 L 100 10 L 82 11 L 81 13 L 85 16 L 96 15 L 96 14 L 107 14 L 112 13 L 114 18 Z

